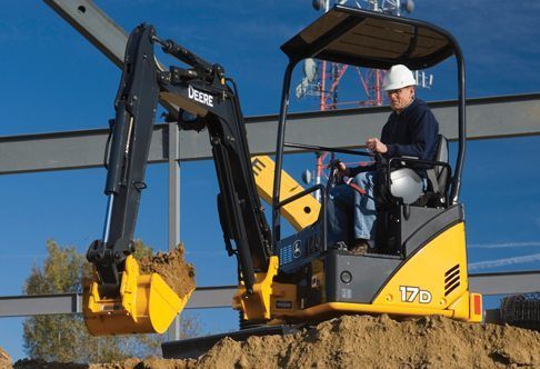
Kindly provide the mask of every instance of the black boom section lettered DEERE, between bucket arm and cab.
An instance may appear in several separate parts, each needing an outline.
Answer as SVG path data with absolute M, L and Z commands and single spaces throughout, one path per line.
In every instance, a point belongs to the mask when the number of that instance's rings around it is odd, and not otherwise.
M 240 277 L 249 290 L 254 272 L 268 268 L 271 237 L 257 195 L 243 116 L 236 89 L 227 83 L 233 81 L 226 78 L 221 66 L 202 61 L 174 41 L 157 42 L 164 52 L 191 67 L 171 67 L 164 72 L 161 93 L 180 107 L 183 129 L 208 129 L 226 246 L 230 255 L 238 257 Z

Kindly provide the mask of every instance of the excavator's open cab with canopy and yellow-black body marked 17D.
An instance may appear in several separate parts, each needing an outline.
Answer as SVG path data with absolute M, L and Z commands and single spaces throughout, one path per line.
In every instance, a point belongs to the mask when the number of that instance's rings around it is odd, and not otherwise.
M 272 325 L 320 320 L 342 313 L 389 313 L 441 315 L 481 321 L 481 296 L 471 293 L 468 288 L 464 215 L 459 201 L 466 150 L 466 88 L 463 56 L 456 39 L 448 31 L 423 21 L 336 6 L 286 42 L 281 50 L 288 56 L 289 64 L 278 126 L 272 207 L 272 250 L 277 260 L 269 269 L 273 282 L 269 285 L 261 278 L 270 286 L 266 288 L 270 296 L 264 309 L 257 310 L 259 302 L 251 306 L 248 301 L 252 298 L 239 289 L 236 302 L 243 318 Z M 294 66 L 314 58 L 381 70 L 394 64 L 419 70 L 452 56 L 457 60 L 459 100 L 456 163 L 448 163 L 443 137 L 439 139 L 434 160 L 398 157 L 379 162 L 376 249 L 367 255 L 352 255 L 342 245 L 327 239 L 324 196 L 316 223 L 281 238 L 280 208 L 313 191 L 326 193 L 324 187 L 319 184 L 289 199 L 279 198 L 284 148 L 354 153 L 286 142 Z M 416 186 L 418 178 L 410 169 L 419 163 L 429 166 L 432 171 L 427 193 Z M 258 300 L 264 301 L 261 297 Z

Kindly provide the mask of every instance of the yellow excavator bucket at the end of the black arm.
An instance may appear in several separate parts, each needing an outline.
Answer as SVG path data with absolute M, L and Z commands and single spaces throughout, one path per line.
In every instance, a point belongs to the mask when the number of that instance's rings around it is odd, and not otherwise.
M 191 292 L 180 298 L 158 273 L 139 275 L 129 256 L 118 296 L 107 296 L 96 279 L 84 286 L 84 322 L 92 336 L 163 333 Z

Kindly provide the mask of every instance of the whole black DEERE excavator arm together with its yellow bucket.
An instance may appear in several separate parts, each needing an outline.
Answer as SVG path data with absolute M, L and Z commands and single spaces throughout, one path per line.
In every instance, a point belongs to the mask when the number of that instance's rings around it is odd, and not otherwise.
M 188 68 L 159 68 L 156 43 Z M 189 298 L 180 299 L 157 273 L 139 275 L 131 255 L 160 97 L 179 107 L 183 129 L 208 129 L 226 247 L 238 258 L 239 282 L 248 293 L 252 292 L 256 272 L 269 266 L 270 228 L 257 193 L 234 82 L 226 78 L 221 66 L 204 61 L 172 40 L 160 40 L 151 26 L 141 24 L 128 40 L 114 101 L 103 237 L 87 252 L 94 266 L 94 279 L 84 290 L 83 312 L 93 335 L 162 332 Z

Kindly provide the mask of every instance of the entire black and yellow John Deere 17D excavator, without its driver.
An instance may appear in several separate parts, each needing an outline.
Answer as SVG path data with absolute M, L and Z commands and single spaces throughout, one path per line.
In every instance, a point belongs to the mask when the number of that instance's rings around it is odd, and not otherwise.
M 162 70 L 154 59 L 158 44 L 187 68 Z M 481 321 L 481 296 L 468 289 L 464 216 L 459 201 L 466 102 L 464 61 L 458 42 L 446 30 L 426 22 L 336 6 L 281 50 L 289 64 L 278 122 L 270 227 L 257 195 L 233 80 L 221 66 L 204 61 L 172 40 L 160 39 L 151 26 L 141 24 L 133 30 L 114 104 L 103 238 L 88 250 L 88 260 L 96 271 L 92 285 L 84 291 L 83 313 L 90 332 L 162 332 L 188 299 L 176 296 L 158 275 L 139 275 L 131 255 L 159 96 L 179 107 L 182 129 L 208 129 L 226 249 L 238 261 L 233 308 L 240 311 L 240 332 L 274 332 L 274 327 L 343 313 L 441 315 Z M 442 137 L 433 161 L 394 158 L 384 162 L 378 158 L 382 180 L 378 183 L 380 226 L 376 248 L 367 255 L 353 255 L 347 245 L 329 242 L 324 209 L 332 181 L 280 198 L 284 147 L 371 154 L 286 143 L 294 66 L 306 58 L 317 58 L 377 69 L 397 63 L 421 69 L 452 56 L 457 60 L 459 94 L 454 166 L 448 162 Z M 432 171 L 427 193 L 408 188 L 414 173 L 410 167 L 419 162 Z M 400 192 L 403 187 L 407 196 Z M 318 190 L 322 199 L 317 220 L 282 238 L 280 209 Z M 177 356 L 170 351 L 174 350 L 174 342 L 169 343 L 163 346 L 163 352 Z

